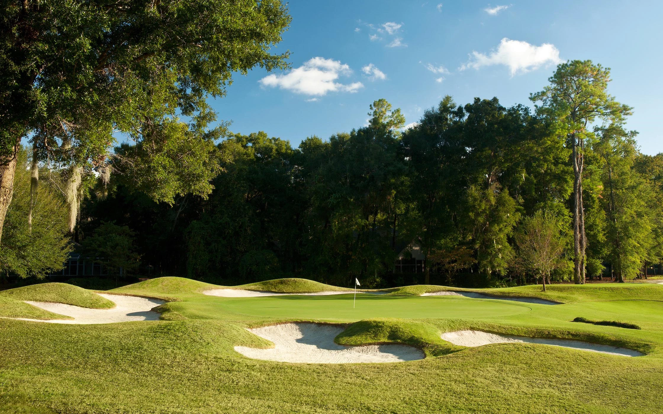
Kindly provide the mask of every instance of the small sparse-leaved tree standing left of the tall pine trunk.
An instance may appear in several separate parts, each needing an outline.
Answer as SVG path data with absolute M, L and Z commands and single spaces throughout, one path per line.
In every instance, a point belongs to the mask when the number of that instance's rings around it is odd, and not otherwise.
M 564 263 L 562 254 L 567 241 L 563 225 L 560 217 L 549 211 L 537 211 L 533 217 L 523 219 L 520 231 L 515 234 L 519 264 L 541 276 L 544 291 L 546 274 L 550 283 L 550 272 Z

